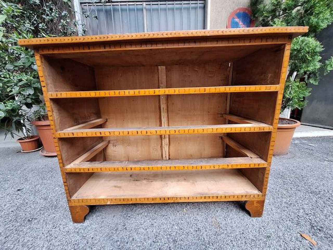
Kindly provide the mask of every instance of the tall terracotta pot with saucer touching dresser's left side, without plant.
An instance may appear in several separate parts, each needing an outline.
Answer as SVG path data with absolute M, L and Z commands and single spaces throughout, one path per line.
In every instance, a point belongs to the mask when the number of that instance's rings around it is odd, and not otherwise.
M 44 150 L 41 150 L 40 154 L 44 156 L 56 156 L 57 152 L 54 146 L 50 121 L 34 121 L 32 124 L 36 126 L 44 146 Z

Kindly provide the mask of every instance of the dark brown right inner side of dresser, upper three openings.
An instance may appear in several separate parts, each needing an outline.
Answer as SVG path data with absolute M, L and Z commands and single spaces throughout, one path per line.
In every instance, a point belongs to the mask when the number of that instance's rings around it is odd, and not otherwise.
M 233 63 L 232 85 L 278 85 L 284 46 L 260 49 Z M 231 93 L 231 115 L 273 125 L 275 120 L 277 92 Z M 271 133 L 239 133 L 229 136 L 241 145 L 268 159 Z

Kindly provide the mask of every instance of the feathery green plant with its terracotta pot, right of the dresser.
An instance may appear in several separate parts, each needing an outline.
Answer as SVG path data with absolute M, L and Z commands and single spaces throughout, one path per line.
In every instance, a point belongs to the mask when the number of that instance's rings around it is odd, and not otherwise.
M 311 84 L 318 84 L 320 74 L 333 69 L 333 57 L 321 61 L 324 50 L 315 35 L 333 22 L 332 1 L 251 0 L 257 26 L 309 26 L 309 32 L 293 39 L 281 113 L 285 109 L 304 108 Z M 287 154 L 292 136 L 300 123 L 280 118 L 275 138 L 274 155 Z

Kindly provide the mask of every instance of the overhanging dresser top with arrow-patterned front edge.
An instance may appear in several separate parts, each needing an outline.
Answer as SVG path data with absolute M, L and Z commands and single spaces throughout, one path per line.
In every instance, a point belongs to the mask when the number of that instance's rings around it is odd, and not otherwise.
M 167 32 L 146 32 L 132 34 L 112 34 L 98 36 L 75 36 L 75 37 L 49 37 L 20 39 L 19 45 L 28 48 L 46 47 L 52 45 L 81 45 L 101 44 L 112 41 L 144 41 L 144 40 L 177 40 L 179 38 L 227 38 L 227 37 L 261 37 L 261 36 L 282 36 L 291 35 L 293 37 L 302 35 L 308 31 L 309 27 L 259 27 L 241 29 L 218 29 L 218 30 L 188 30 L 188 31 L 167 31 Z

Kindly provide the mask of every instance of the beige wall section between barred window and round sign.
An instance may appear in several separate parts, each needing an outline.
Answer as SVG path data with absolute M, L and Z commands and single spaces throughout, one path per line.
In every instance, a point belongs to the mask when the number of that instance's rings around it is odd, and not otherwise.
M 225 29 L 230 13 L 240 7 L 248 7 L 250 0 L 206 0 L 210 1 L 209 29 Z

